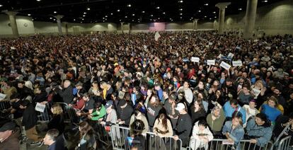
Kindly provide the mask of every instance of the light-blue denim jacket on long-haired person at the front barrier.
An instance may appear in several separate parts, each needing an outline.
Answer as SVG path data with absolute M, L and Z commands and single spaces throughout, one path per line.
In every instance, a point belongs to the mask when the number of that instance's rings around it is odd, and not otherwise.
M 229 132 L 229 137 L 233 139 L 234 146 L 236 146 L 237 149 L 240 149 L 239 141 L 243 139 L 243 136 L 245 133 L 243 127 L 239 126 L 239 127 L 236 127 L 235 129 L 232 129 L 232 122 L 226 121 L 222 129 L 222 134 L 225 134 L 226 132 Z

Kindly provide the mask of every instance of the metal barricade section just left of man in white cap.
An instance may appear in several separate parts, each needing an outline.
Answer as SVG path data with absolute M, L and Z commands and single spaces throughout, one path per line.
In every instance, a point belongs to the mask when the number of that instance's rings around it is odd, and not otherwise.
M 163 149 L 182 149 L 182 140 L 177 141 L 173 137 L 159 137 L 154 132 L 146 132 L 146 146 L 149 150 Z

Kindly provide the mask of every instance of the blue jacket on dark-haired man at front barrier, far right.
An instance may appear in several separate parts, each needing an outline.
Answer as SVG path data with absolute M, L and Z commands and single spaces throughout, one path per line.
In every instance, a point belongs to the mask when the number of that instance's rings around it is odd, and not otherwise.
M 270 142 L 270 138 L 272 137 L 272 127 L 270 122 L 265 122 L 264 125 L 257 125 L 255 123 L 255 117 L 248 120 L 246 125 L 246 132 L 248 136 L 254 137 L 258 142 L 256 145 L 265 146 Z

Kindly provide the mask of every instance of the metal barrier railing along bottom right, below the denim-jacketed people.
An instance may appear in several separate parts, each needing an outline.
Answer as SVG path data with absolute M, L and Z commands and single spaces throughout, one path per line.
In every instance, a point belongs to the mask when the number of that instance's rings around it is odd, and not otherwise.
M 192 140 L 190 140 L 192 141 Z M 239 150 L 273 150 L 274 144 L 272 142 L 268 142 L 264 146 L 260 147 L 256 144 L 251 144 L 250 140 L 243 139 L 239 142 L 238 145 L 233 144 L 233 142 L 228 142 L 227 139 L 212 139 L 212 141 L 205 142 L 197 142 L 196 140 L 190 142 L 190 145 L 187 147 L 188 150 L 196 150 L 196 149 L 205 149 L 205 150 L 230 150 L 230 149 L 239 149 Z

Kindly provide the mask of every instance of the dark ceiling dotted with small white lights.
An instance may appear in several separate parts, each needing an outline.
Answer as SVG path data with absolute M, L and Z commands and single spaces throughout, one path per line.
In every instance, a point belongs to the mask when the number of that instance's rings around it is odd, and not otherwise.
M 214 20 L 219 16 L 215 4 L 228 0 L 6 0 L 0 1 L 0 11 L 18 11 L 18 16 L 31 16 L 33 21 L 76 23 L 98 22 L 172 22 Z M 230 0 L 226 15 L 246 11 L 246 0 Z M 280 0 L 258 0 L 258 7 Z

